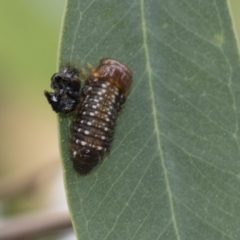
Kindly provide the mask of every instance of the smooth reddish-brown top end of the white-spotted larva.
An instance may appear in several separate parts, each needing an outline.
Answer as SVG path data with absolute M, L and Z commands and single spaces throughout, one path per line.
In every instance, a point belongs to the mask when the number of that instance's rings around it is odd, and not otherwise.
M 102 59 L 99 65 L 93 70 L 95 78 L 110 82 L 120 89 L 123 96 L 126 96 L 131 83 L 131 70 L 115 59 Z

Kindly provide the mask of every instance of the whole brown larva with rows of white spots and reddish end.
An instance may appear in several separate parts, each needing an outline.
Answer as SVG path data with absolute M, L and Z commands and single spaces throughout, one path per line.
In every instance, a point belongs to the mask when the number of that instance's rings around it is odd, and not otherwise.
M 89 173 L 110 150 L 117 113 L 131 82 L 130 69 L 110 58 L 102 59 L 86 80 L 70 136 L 71 159 L 78 173 Z

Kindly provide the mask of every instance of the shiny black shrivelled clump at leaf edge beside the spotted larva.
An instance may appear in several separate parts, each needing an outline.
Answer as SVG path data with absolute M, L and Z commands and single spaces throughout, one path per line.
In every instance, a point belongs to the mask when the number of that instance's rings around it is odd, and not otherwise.
M 72 66 L 63 66 L 51 78 L 54 92 L 44 91 L 48 102 L 55 112 L 68 113 L 79 103 L 80 80 L 79 71 Z

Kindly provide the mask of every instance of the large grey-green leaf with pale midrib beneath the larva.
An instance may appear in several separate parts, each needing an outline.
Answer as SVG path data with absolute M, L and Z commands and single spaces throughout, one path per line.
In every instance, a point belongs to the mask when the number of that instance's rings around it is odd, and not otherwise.
M 240 239 L 240 64 L 225 0 L 70 0 L 60 62 L 134 75 L 111 152 L 79 176 L 59 117 L 78 239 Z

